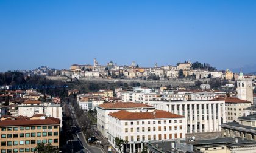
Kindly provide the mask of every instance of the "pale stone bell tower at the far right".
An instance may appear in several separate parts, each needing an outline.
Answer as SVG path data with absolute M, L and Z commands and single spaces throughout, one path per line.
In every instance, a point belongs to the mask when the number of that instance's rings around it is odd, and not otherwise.
M 244 78 L 242 72 L 240 72 L 237 80 L 237 97 L 241 100 L 247 100 L 251 103 L 254 102 L 252 79 Z

